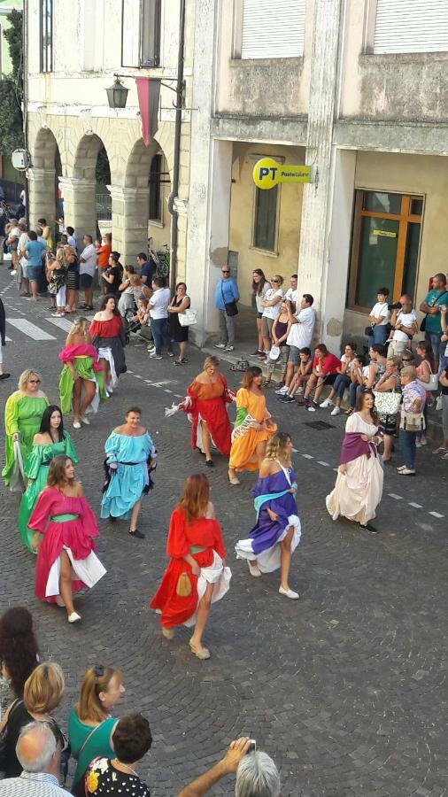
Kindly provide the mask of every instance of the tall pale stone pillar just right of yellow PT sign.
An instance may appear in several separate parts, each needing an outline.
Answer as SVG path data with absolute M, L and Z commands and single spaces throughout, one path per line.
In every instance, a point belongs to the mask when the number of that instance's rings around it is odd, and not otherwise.
M 318 337 L 324 338 L 328 292 L 339 281 L 333 268 L 331 282 L 328 279 L 328 228 L 334 184 L 332 139 L 341 25 L 342 0 L 315 0 L 305 162 L 313 165 L 316 182 L 304 186 L 298 275 L 300 290 L 313 294 L 316 310 L 320 311 L 316 331 Z M 344 306 L 338 313 L 341 322 L 343 316 Z

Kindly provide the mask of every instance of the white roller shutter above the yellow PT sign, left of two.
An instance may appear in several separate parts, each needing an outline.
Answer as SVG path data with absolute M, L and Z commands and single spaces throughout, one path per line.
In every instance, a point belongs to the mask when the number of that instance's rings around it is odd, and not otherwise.
M 303 55 L 305 0 L 244 0 L 241 58 Z

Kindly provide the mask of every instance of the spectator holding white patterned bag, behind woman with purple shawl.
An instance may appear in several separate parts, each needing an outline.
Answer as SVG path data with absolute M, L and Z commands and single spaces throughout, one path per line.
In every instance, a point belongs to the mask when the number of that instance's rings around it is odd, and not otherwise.
M 393 354 L 387 360 L 385 373 L 375 384 L 375 410 L 384 435 L 383 462 L 392 459 L 392 442 L 397 432 L 401 404 L 400 366 L 401 358 Z

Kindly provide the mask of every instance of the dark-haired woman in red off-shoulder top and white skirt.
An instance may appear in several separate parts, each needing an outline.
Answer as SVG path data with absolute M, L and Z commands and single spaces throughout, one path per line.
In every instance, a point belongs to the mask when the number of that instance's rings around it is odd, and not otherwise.
M 102 298 L 99 313 L 95 313 L 89 333 L 103 368 L 104 387 L 110 394 L 120 374 L 126 371 L 126 334 L 114 296 L 107 294 Z

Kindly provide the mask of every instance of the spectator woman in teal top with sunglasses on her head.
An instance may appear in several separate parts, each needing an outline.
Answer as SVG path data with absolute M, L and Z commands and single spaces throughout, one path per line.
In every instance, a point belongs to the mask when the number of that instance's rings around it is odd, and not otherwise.
M 77 766 L 73 794 L 84 792 L 84 772 L 97 755 L 114 758 L 112 733 L 118 720 L 111 711 L 125 693 L 120 669 L 90 667 L 81 681 L 80 699 L 68 717 L 68 738 Z

